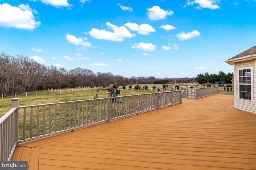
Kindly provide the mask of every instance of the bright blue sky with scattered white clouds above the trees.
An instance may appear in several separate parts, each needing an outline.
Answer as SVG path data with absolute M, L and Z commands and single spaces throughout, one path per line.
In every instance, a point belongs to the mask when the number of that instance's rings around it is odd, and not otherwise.
M 256 0 L 1 0 L 0 51 L 124 77 L 195 77 L 256 45 Z

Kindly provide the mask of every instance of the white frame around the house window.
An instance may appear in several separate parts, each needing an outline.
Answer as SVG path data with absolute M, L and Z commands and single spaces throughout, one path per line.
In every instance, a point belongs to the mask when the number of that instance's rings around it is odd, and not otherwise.
M 240 76 L 240 70 L 247 70 L 250 69 L 250 76 Z M 240 82 L 240 77 L 250 77 L 250 83 L 243 83 Z M 247 81 L 247 80 L 246 80 Z M 251 99 L 246 99 L 246 98 L 240 98 L 240 85 L 250 85 L 250 93 L 251 93 Z M 252 66 L 248 66 L 248 67 L 241 67 L 238 68 L 238 99 L 239 100 L 245 100 L 245 101 L 249 101 L 249 102 L 253 102 L 253 67 Z

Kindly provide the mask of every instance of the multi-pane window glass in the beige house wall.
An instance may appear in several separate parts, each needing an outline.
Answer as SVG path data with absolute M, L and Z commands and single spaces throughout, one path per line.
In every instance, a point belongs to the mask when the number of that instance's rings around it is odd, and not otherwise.
M 239 98 L 252 100 L 252 68 L 239 70 Z

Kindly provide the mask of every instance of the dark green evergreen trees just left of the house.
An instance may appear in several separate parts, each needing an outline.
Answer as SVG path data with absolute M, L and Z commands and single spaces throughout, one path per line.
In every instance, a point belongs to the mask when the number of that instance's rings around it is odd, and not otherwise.
M 226 84 L 231 84 L 234 74 L 228 73 L 225 74 L 223 71 L 220 71 L 219 74 L 209 74 L 208 72 L 204 74 L 198 74 L 195 78 L 196 82 L 199 84 L 206 84 L 210 82 L 215 84 L 215 82 L 226 82 Z

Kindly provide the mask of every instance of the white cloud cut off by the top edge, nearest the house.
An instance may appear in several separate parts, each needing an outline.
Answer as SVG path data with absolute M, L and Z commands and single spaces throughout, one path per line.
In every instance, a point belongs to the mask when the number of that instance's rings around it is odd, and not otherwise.
M 218 4 L 220 3 L 220 0 L 194 0 L 194 1 L 188 0 L 186 3 L 188 5 L 199 4 L 199 6 L 196 7 L 198 9 L 202 9 L 202 8 L 210 8 L 212 10 L 220 9 L 220 6 L 218 6 Z

